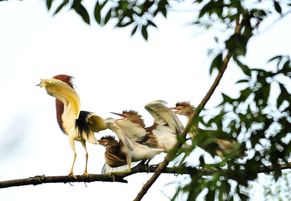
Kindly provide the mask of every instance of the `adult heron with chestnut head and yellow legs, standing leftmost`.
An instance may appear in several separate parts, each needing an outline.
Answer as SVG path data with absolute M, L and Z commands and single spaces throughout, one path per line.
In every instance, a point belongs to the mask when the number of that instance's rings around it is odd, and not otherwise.
M 86 142 L 98 144 L 94 132 L 107 129 L 104 120 L 92 112 L 80 111 L 81 103 L 77 92 L 74 90 L 72 76 L 57 75 L 52 79 L 40 79 L 37 86 L 44 87 L 47 94 L 56 98 L 56 117 L 61 131 L 68 136 L 70 146 L 74 151 L 74 160 L 68 176 L 77 177 L 73 174 L 76 159 L 74 140 L 80 141 L 86 151 L 86 165 L 83 175 L 88 177 L 87 161 L 88 152 Z

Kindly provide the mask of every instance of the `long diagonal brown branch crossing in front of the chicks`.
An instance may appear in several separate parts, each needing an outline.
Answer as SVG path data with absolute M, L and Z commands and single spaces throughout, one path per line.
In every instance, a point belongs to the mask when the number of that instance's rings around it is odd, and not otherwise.
M 239 23 L 239 20 L 236 20 L 236 24 L 235 24 L 235 34 L 240 35 L 241 34 L 241 30 L 243 27 L 243 23 L 244 23 L 244 16 L 242 17 L 241 22 Z M 189 132 L 191 126 L 192 126 L 192 122 L 194 121 L 194 119 L 197 117 L 197 115 L 199 115 L 200 111 L 202 108 L 204 108 L 205 104 L 207 103 L 207 101 L 210 99 L 211 95 L 213 94 L 214 90 L 216 89 L 216 87 L 219 84 L 219 81 L 222 78 L 222 75 L 224 73 L 224 71 L 226 70 L 226 67 L 228 65 L 228 62 L 231 58 L 231 56 L 233 55 L 232 52 L 228 51 L 228 53 L 226 54 L 226 57 L 224 58 L 221 68 L 219 70 L 219 73 L 216 77 L 216 79 L 214 80 L 214 83 L 212 84 L 211 88 L 209 89 L 209 91 L 207 92 L 206 96 L 202 99 L 201 103 L 198 105 L 197 109 L 193 112 L 193 114 L 191 115 L 191 118 L 189 120 L 189 123 L 186 125 L 182 136 L 184 138 L 186 138 L 187 133 Z M 177 143 L 175 145 L 175 148 L 180 148 L 182 146 L 182 144 Z M 146 184 L 143 185 L 141 191 L 138 193 L 138 195 L 136 196 L 136 198 L 133 201 L 140 201 L 143 196 L 145 195 L 145 193 L 147 193 L 148 189 L 152 186 L 152 184 L 157 180 L 157 178 L 159 177 L 159 175 L 163 172 L 163 170 L 166 168 L 166 166 L 169 164 L 170 159 L 173 155 L 175 155 L 177 153 L 178 149 L 175 149 L 175 151 L 170 152 L 166 155 L 164 161 L 162 163 L 160 163 L 159 167 L 155 170 L 154 175 L 152 175 L 152 177 L 148 180 L 148 182 Z

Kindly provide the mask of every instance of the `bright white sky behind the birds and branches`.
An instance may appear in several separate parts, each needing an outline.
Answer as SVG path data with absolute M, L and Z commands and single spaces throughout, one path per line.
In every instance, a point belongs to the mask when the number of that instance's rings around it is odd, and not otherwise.
M 189 8 L 189 2 L 177 5 L 177 9 Z M 52 17 L 45 1 L 1 1 L 0 180 L 67 175 L 70 171 L 73 151 L 56 122 L 54 98 L 35 86 L 39 78 L 71 75 L 76 78 L 81 110 L 116 118 L 109 112 L 134 109 L 144 116 L 146 126 L 153 123 L 143 108 L 148 102 L 165 100 L 171 107 L 178 101 L 190 100 L 198 105 L 217 73 L 209 75 L 206 51 L 216 47 L 214 36 L 227 36 L 188 26 L 194 16 L 193 12 L 169 12 L 168 19 L 159 16 L 154 20 L 158 29 L 148 30 L 146 42 L 140 33 L 130 37 L 132 28 L 113 29 L 112 22 L 100 28 L 93 18 L 89 26 L 67 9 Z M 262 24 L 262 29 L 272 20 Z M 290 21 L 289 15 L 253 37 L 246 63 L 265 67 L 269 58 L 291 54 Z M 233 83 L 241 78 L 241 70 L 230 63 L 207 107 L 220 102 L 220 92 L 237 96 L 241 86 Z M 185 118 L 181 120 L 186 122 Z M 105 134 L 111 131 L 95 136 Z M 78 175 L 84 172 L 85 153 L 80 143 L 75 144 L 73 172 Z M 105 148 L 87 143 L 87 150 L 88 173 L 99 174 L 105 162 Z M 163 156 L 152 164 L 161 162 Z M 192 154 L 194 164 L 198 157 Z M 151 175 L 132 175 L 126 178 L 128 184 L 88 183 L 88 188 L 84 183 L 11 187 L 0 189 L 0 199 L 133 200 Z M 184 177 L 161 175 L 143 200 L 168 200 L 162 191 L 171 197 L 176 185 L 164 188 L 165 185 Z M 261 196 L 260 192 L 256 196 Z

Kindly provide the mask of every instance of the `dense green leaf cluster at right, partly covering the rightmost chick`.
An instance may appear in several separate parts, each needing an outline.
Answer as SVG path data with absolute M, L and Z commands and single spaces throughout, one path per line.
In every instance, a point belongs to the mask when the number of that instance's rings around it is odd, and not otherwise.
M 249 181 L 257 178 L 260 167 L 266 168 L 272 164 L 276 181 L 282 175 L 279 164 L 287 163 L 291 152 L 290 139 L 286 140 L 291 135 L 291 96 L 282 80 L 291 82 L 291 66 L 289 56 L 277 56 L 270 61 L 275 60 L 278 61 L 277 68 L 273 72 L 245 66 L 247 79 L 237 82 L 246 86 L 240 91 L 240 96 L 231 98 L 222 94 L 223 101 L 216 108 L 219 111 L 217 115 L 208 122 L 203 121 L 203 117 L 195 119 L 194 124 L 200 122 L 212 130 L 200 129 L 199 135 L 192 140 L 192 147 L 184 152 L 199 146 L 214 157 L 218 149 L 216 138 L 240 139 L 241 143 L 235 145 L 231 152 L 224 151 L 224 159 L 218 164 L 205 164 L 204 156 L 200 156 L 200 168 L 218 170 L 211 176 L 205 177 L 184 163 L 180 171 L 188 172 L 191 182 L 180 186 L 177 194 L 188 193 L 188 200 L 194 200 L 206 188 L 206 200 L 233 200 L 235 196 L 247 200 L 248 194 L 244 189 Z M 281 90 L 281 93 L 275 97 L 273 94 L 277 90 Z M 215 131 L 213 127 L 216 127 Z M 249 150 L 247 159 L 239 160 L 246 150 Z

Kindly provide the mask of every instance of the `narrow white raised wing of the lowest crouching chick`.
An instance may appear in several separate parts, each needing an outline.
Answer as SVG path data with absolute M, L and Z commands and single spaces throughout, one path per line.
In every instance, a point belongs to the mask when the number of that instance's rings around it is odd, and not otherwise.
M 134 145 L 132 144 L 132 142 L 128 139 L 128 137 L 125 135 L 123 129 L 121 129 L 117 124 L 117 121 L 115 121 L 115 119 L 113 118 L 107 118 L 104 120 L 104 123 L 106 124 L 106 126 L 112 130 L 114 133 L 117 134 L 118 139 L 121 140 L 124 145 L 130 150 L 133 151 Z

